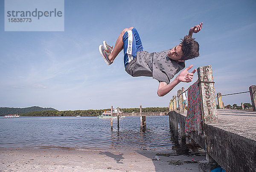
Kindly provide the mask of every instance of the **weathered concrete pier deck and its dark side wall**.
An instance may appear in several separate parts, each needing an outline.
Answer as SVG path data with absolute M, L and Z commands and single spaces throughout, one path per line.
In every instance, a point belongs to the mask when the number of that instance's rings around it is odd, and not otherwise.
M 170 113 L 185 123 L 186 114 Z M 188 133 L 227 172 L 256 172 L 256 112 L 218 110 L 218 123 L 204 125 L 205 135 Z

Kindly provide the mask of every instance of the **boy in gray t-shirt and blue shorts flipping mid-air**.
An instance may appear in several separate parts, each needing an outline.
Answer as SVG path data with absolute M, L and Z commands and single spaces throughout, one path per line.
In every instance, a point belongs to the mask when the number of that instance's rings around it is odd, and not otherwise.
M 203 23 L 189 29 L 189 34 L 181 39 L 181 43 L 172 49 L 158 53 L 143 51 L 139 33 L 134 27 L 125 28 L 116 40 L 115 47 L 109 46 L 106 41 L 99 45 L 99 52 L 108 65 L 113 63 L 116 56 L 124 49 L 125 71 L 131 76 L 153 76 L 159 81 L 158 96 L 169 93 L 180 82 L 191 82 L 195 69 L 189 73 L 190 65 L 185 68 L 185 60 L 199 56 L 199 44 L 192 38 L 198 33 Z M 180 70 L 180 74 L 170 82 Z

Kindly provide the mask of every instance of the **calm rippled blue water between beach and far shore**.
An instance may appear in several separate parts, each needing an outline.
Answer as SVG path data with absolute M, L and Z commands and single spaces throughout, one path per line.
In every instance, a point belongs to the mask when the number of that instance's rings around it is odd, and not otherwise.
M 174 145 L 168 116 L 147 116 L 143 129 L 140 117 L 120 118 L 119 129 L 113 119 L 113 131 L 110 122 L 97 117 L 0 117 L 0 148 L 170 150 Z

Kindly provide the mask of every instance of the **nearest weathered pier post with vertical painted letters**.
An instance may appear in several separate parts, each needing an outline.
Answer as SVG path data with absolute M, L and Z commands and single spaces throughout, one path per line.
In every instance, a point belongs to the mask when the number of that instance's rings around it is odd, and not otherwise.
M 212 66 L 208 65 L 199 67 L 197 70 L 203 121 L 216 123 L 218 121 L 218 116 L 215 100 L 215 89 L 212 77 Z

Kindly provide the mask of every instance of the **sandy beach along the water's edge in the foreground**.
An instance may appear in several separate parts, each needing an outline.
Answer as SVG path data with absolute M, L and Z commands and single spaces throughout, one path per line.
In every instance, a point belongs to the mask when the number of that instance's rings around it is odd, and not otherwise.
M 159 156 L 156 153 L 116 149 L 0 149 L 0 172 L 198 172 L 198 163 L 169 165 L 171 160 L 201 161 L 202 156 Z

